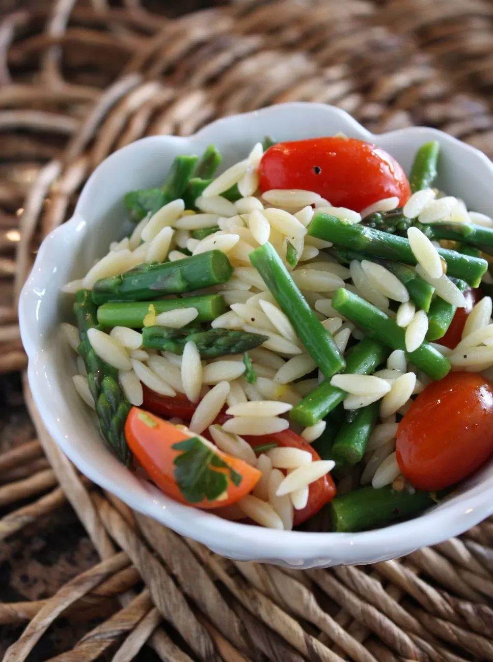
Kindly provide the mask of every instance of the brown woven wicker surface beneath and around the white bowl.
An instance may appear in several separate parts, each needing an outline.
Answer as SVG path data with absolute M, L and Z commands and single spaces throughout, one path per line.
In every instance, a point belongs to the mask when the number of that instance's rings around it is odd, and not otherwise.
M 431 124 L 493 156 L 492 64 L 493 4 L 480 0 L 241 2 L 173 20 L 138 0 L 58 0 L 7 15 L 0 371 L 25 367 L 15 306 L 36 246 L 115 148 L 304 100 L 334 103 L 374 131 Z M 82 479 L 28 388 L 36 430 L 11 385 L 0 455 L 6 661 L 493 660 L 493 522 L 370 567 L 235 563 Z M 31 575 L 41 566 L 42 591 L 30 575 L 7 576 L 22 559 Z M 139 654 L 146 642 L 154 650 Z

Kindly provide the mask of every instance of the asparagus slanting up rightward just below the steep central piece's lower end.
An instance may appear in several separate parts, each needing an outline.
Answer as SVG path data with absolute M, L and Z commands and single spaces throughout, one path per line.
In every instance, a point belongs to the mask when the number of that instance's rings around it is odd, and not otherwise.
M 346 367 L 344 372 L 357 373 L 358 375 L 369 375 L 390 354 L 390 350 L 376 340 L 363 338 L 355 345 L 346 356 Z M 323 381 L 312 393 L 308 393 L 302 401 L 296 404 L 291 412 L 290 418 L 302 426 L 310 426 L 341 404 L 347 393 L 330 384 L 330 379 Z

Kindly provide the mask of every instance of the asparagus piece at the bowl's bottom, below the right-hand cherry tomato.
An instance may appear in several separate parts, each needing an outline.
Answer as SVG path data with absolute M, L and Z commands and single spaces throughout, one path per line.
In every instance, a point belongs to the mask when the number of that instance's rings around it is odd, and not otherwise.
M 434 502 L 429 493 L 419 490 L 396 491 L 391 485 L 375 489 L 361 487 L 330 502 L 332 530 L 355 532 L 386 526 L 421 514 Z

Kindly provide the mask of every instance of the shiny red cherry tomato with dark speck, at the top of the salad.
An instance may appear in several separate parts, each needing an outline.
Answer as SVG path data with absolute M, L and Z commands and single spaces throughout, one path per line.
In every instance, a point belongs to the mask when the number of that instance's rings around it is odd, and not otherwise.
M 390 154 L 356 138 L 310 138 L 269 147 L 259 166 L 259 189 L 314 191 L 335 207 L 361 211 L 382 198 L 411 195 L 406 173 Z

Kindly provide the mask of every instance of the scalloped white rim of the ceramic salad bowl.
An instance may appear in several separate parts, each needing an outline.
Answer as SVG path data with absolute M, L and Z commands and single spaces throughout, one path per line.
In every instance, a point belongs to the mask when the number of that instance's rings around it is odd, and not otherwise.
M 140 481 L 142 491 L 129 490 L 123 481 L 112 479 L 107 475 L 104 467 L 102 469 L 94 459 L 91 459 L 90 454 L 84 453 L 82 439 L 77 438 L 76 434 L 75 436 L 64 434 L 65 426 L 67 430 L 71 430 L 71 416 L 60 407 L 59 403 L 54 404 L 53 399 L 50 398 L 53 384 L 46 372 L 46 366 L 50 365 L 50 353 L 46 348 L 46 338 L 40 337 L 36 324 L 38 310 L 44 305 L 43 299 L 46 299 L 46 288 L 43 289 L 42 286 L 48 282 L 47 273 L 51 273 L 53 268 L 56 271 L 56 266 L 53 267 L 53 265 L 56 265 L 57 252 L 85 224 L 85 220 L 81 216 L 81 209 L 83 210 L 84 205 L 87 205 L 90 192 L 105 169 L 122 160 L 128 161 L 132 156 L 132 151 L 140 150 L 146 145 L 158 144 L 159 148 L 165 149 L 167 146 L 177 144 L 193 146 L 196 143 L 214 142 L 214 139 L 208 138 L 208 136 L 214 136 L 218 130 L 227 134 L 228 127 L 234 125 L 235 122 L 240 121 L 245 125 L 252 121 L 258 122 L 258 118 L 261 121 L 270 118 L 270 120 L 275 119 L 279 122 L 284 118 L 286 123 L 289 120 L 285 116 L 296 117 L 301 114 L 305 119 L 308 115 L 316 117 L 319 124 L 323 118 L 326 118 L 328 124 L 336 123 L 339 126 L 338 130 L 386 146 L 391 152 L 392 149 L 388 146 L 398 145 L 401 140 L 405 142 L 410 137 L 416 138 L 415 144 L 436 138 L 442 146 L 447 146 L 452 151 L 460 152 L 461 156 L 466 155 L 467 158 L 472 159 L 472 162 L 479 168 L 478 177 L 482 177 L 485 180 L 484 185 L 489 185 L 493 190 L 493 165 L 482 152 L 472 146 L 432 128 L 410 127 L 374 135 L 344 111 L 323 104 L 287 103 L 261 111 L 234 115 L 218 119 L 187 138 L 176 136 L 142 138 L 114 152 L 95 169 L 83 187 L 72 218 L 49 234 L 40 246 L 34 267 L 22 289 L 19 301 L 22 341 L 29 359 L 28 381 L 42 420 L 58 446 L 91 481 L 111 491 L 138 512 L 159 520 L 180 534 L 199 540 L 222 555 L 238 559 L 289 563 L 297 567 L 336 563 L 371 563 L 410 553 L 424 545 L 437 544 L 451 536 L 461 534 L 492 514 L 493 475 L 487 481 L 484 480 L 468 489 L 465 493 L 467 496 L 465 503 L 453 499 L 412 520 L 360 533 L 270 530 L 230 522 L 204 510 L 183 506 L 163 495 L 145 481 Z M 308 134 L 306 137 L 310 137 L 312 134 L 310 130 L 305 133 Z M 453 194 L 453 191 L 449 191 L 449 193 Z M 58 293 L 52 293 L 52 297 L 55 295 L 58 296 Z M 33 305 L 36 307 L 35 313 Z M 45 364 L 46 359 L 48 359 L 48 363 Z M 60 385 L 56 386 L 60 387 Z M 85 407 L 82 402 L 80 406 Z M 96 429 L 94 434 L 99 437 L 99 431 Z M 107 449 L 105 452 L 110 454 Z M 128 469 L 124 469 L 124 471 L 128 473 L 129 477 L 132 475 Z

